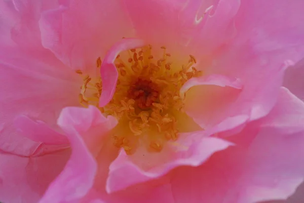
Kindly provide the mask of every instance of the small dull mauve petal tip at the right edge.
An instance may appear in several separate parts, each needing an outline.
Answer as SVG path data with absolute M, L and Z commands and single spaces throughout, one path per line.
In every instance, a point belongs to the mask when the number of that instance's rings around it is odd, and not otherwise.
M 285 72 L 283 86 L 304 101 L 304 58 Z

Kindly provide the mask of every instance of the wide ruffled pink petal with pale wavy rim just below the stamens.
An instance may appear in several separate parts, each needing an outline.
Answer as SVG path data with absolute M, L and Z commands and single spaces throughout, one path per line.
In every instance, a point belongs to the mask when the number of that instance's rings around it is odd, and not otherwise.
M 177 142 L 168 143 L 160 153 L 147 152 L 144 147 L 137 149 L 133 155 L 126 155 L 122 150 L 110 165 L 107 192 L 115 192 L 136 183 L 158 178 L 178 166 L 201 165 L 214 152 L 233 145 L 208 136 L 237 128 L 246 122 L 246 118 L 248 117 L 227 118 L 222 124 L 208 131 L 181 134 Z

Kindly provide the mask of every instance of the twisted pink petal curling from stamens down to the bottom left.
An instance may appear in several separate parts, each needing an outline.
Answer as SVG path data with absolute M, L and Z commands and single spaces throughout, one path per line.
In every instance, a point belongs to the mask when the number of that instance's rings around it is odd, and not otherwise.
M 95 155 L 103 146 L 103 138 L 117 121 L 105 118 L 98 108 L 66 107 L 62 110 L 58 125 L 66 132 L 72 155 L 65 169 L 51 183 L 43 202 L 77 201 L 93 187 L 97 174 Z

